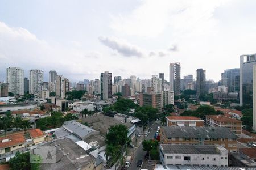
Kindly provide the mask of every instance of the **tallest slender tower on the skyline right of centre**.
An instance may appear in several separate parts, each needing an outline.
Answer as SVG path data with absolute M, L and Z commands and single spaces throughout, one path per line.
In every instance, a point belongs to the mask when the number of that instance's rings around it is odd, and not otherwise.
M 170 91 L 180 94 L 180 63 L 170 63 Z

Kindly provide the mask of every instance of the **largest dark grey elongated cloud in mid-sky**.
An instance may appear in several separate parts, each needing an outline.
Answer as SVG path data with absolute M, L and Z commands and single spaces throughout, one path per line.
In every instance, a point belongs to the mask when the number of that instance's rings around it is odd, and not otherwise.
M 115 37 L 98 37 L 98 40 L 113 50 L 117 50 L 118 53 L 125 57 L 142 57 L 143 51 L 135 45 L 131 45 L 128 42 L 117 39 Z

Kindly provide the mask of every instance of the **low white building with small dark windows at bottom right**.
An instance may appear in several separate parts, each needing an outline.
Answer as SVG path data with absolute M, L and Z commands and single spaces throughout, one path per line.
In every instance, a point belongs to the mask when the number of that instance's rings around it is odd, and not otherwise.
M 220 145 L 160 145 L 164 165 L 228 167 L 228 150 Z

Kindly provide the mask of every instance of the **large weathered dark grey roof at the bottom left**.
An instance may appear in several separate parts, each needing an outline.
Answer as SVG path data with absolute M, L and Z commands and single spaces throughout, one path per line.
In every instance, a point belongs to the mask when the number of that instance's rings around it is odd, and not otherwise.
M 88 155 L 85 150 L 71 139 L 49 141 L 42 146 L 56 147 L 56 163 L 44 163 L 40 169 L 83 169 L 86 165 L 95 161 L 93 156 Z

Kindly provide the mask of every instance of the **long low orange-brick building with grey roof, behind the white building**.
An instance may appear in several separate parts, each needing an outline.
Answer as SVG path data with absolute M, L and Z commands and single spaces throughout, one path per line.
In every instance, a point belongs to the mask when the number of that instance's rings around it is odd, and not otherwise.
M 237 136 L 224 127 L 162 127 L 159 135 L 163 144 L 217 144 L 229 152 L 237 152 Z

